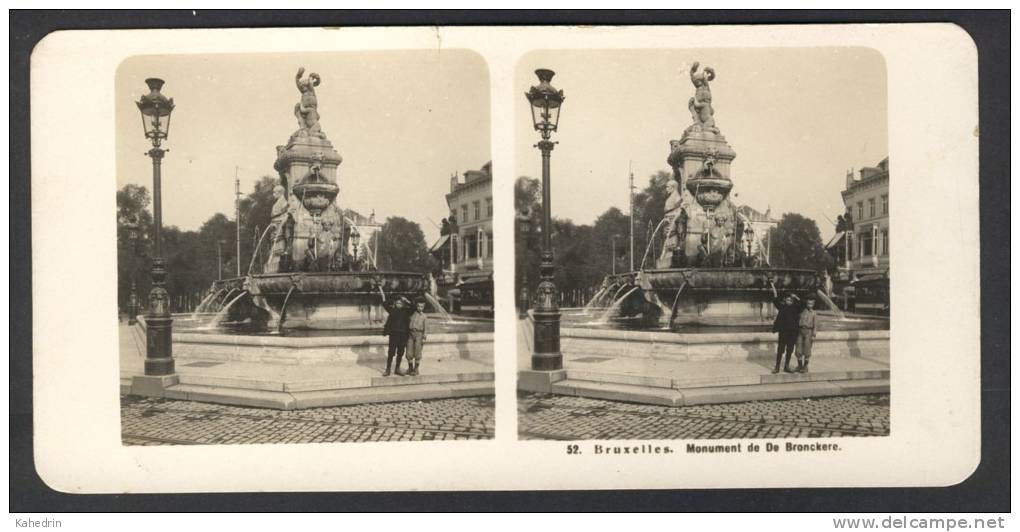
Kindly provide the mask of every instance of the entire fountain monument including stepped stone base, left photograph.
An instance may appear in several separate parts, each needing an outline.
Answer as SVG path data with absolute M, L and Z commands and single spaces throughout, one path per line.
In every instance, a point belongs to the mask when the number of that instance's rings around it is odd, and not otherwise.
M 450 319 L 426 273 L 381 271 L 340 207 L 343 161 L 319 124 L 316 73 L 295 76 L 298 129 L 276 147 L 271 223 L 244 276 L 213 282 L 192 315 L 174 316 L 177 375 L 138 384 L 144 360 L 121 350 L 121 392 L 273 409 L 492 395 L 492 320 Z M 382 375 L 384 303 L 424 297 L 422 373 Z M 441 319 L 436 319 L 437 317 Z M 144 317 L 124 332 L 138 343 Z M 316 329 L 316 330 L 304 330 Z M 144 344 L 144 342 L 142 343 Z

